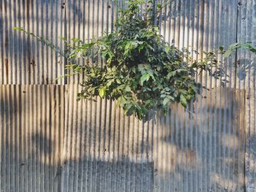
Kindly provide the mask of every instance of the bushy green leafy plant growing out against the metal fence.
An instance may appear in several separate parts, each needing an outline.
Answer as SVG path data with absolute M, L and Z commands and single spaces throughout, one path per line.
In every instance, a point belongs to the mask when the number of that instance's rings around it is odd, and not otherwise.
M 159 108 L 167 112 L 171 102 L 187 107 L 189 101 L 195 101 L 202 88 L 195 77 L 202 71 L 224 81 L 225 72 L 217 59 L 223 51 L 213 50 L 204 53 L 205 58 L 195 60 L 189 50 L 178 50 L 159 34 L 154 23 L 167 1 L 158 5 L 143 0 L 127 3 L 126 9 L 118 9 L 115 31 L 105 32 L 89 43 L 61 38 L 66 45 L 64 51 L 23 28 L 15 29 L 25 31 L 66 57 L 67 68 L 72 69 L 67 75 L 83 74 L 78 99 L 100 96 L 117 100 L 127 115 L 139 119 Z M 103 66 L 92 62 L 98 55 L 105 61 Z M 79 58 L 86 62 L 78 63 Z

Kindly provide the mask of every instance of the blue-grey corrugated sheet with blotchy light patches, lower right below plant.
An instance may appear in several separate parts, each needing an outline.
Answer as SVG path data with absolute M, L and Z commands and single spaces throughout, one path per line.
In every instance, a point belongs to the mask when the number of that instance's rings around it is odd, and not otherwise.
M 244 93 L 240 98 L 239 91 L 228 88 L 209 92 L 195 104 L 192 118 L 174 106 L 170 113 L 177 115 L 159 119 L 163 127 L 159 140 L 165 151 L 159 158 L 171 153 L 170 160 L 161 163 L 165 164 L 161 187 L 182 182 L 181 191 L 190 187 L 195 191 L 244 191 Z M 173 179 L 177 174 L 180 180 Z

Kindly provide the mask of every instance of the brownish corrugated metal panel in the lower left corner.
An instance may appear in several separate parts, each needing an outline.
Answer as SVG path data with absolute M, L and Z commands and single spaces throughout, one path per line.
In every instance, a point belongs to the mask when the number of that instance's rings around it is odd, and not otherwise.
M 0 85 L 0 191 L 59 191 L 63 85 Z

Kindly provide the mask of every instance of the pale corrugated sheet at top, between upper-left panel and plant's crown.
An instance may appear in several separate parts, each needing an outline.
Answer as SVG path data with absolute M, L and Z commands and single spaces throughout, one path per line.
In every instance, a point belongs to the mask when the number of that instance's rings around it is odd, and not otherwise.
M 111 0 L 67 0 L 67 39 L 78 37 L 84 41 L 113 31 L 116 7 Z M 101 61 L 99 61 L 101 64 Z M 68 84 L 77 84 L 82 76 L 70 77 Z

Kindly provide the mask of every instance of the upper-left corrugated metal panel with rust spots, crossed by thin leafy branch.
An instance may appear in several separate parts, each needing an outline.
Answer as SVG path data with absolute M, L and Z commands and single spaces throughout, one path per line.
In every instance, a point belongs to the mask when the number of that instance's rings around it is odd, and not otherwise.
M 0 1 L 0 84 L 56 84 L 64 64 L 50 48 L 26 34 L 12 30 L 23 27 L 64 47 L 64 1 Z M 63 80 L 58 82 L 63 83 Z

